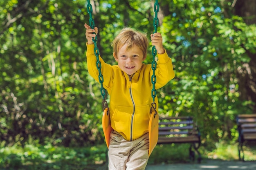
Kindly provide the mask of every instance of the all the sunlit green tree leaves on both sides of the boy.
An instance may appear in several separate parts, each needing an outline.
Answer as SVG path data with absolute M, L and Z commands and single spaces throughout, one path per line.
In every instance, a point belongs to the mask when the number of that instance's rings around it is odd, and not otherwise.
M 115 64 L 113 38 L 124 26 L 149 37 L 153 7 L 147 0 L 95 2 L 99 2 L 93 17 L 99 27 L 101 57 Z M 4 126 L 19 132 L 23 126 L 13 126 L 11 117 L 20 114 L 18 106 L 26 106 L 25 111 L 19 108 L 24 111 L 19 122 L 25 124 L 27 133 L 43 138 L 51 129 L 54 135 L 49 140 L 63 137 L 65 144 L 83 145 L 93 136 L 90 142 L 103 142 L 99 84 L 88 75 L 86 66 L 83 24 L 89 21 L 87 1 L 31 1 L 20 10 L 24 5 L 23 1 L 0 1 L 4 29 L 0 29 L 0 117 L 7 119 Z M 247 26 L 238 16 L 227 17 L 230 6 L 223 0 L 160 3 L 164 18 L 158 31 L 176 76 L 157 92 L 159 113 L 196 117 L 206 138 L 222 137 L 222 121 L 252 105 L 239 100 L 236 71 L 251 60 L 247 51 L 256 53 L 255 25 Z M 150 48 L 146 62 L 152 60 Z

